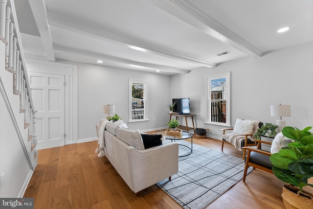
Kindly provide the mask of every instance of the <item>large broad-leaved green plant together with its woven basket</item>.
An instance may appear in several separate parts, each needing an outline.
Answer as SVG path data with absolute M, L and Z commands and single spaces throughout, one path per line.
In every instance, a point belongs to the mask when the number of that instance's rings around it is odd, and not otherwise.
M 269 157 L 274 175 L 287 183 L 283 186 L 282 193 L 287 209 L 313 207 L 313 195 L 302 190 L 304 186 L 313 187 L 313 184 L 308 183 L 308 179 L 313 177 L 313 134 L 309 132 L 311 128 L 283 128 L 282 134 L 294 142 Z

